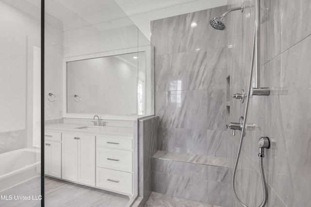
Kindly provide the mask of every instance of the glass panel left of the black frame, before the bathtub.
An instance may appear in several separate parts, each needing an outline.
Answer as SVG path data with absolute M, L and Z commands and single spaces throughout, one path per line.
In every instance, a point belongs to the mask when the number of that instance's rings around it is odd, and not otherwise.
M 40 7 L 0 0 L 0 206 L 40 206 Z

